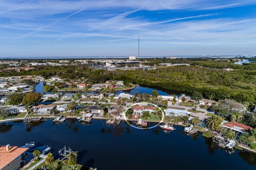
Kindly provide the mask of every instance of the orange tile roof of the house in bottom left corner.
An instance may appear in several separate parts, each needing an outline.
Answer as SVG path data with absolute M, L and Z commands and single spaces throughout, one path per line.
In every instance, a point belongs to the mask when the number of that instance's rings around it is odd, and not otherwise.
M 10 150 L 6 150 L 6 146 L 0 146 L 0 169 L 12 162 L 15 158 L 23 154 L 29 148 L 18 148 L 18 146 L 10 146 Z

